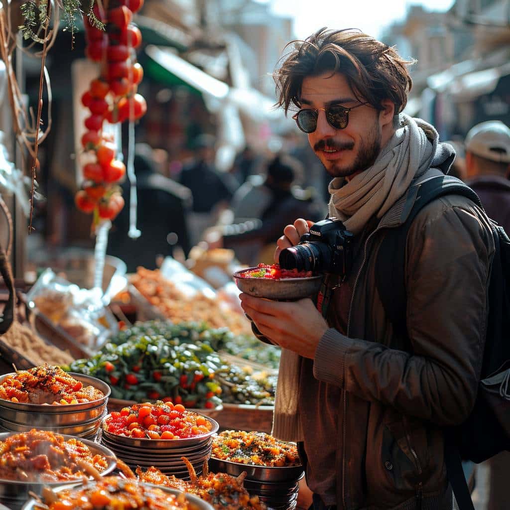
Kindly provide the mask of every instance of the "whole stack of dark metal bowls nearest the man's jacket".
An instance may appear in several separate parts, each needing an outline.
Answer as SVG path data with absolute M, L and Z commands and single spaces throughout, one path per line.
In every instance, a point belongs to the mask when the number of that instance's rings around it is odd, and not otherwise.
M 221 461 L 211 457 L 209 467 L 213 473 L 239 476 L 246 471 L 244 488 L 250 496 L 259 496 L 273 510 L 294 510 L 297 505 L 299 480 L 304 476 L 302 466 L 265 467 L 237 462 Z

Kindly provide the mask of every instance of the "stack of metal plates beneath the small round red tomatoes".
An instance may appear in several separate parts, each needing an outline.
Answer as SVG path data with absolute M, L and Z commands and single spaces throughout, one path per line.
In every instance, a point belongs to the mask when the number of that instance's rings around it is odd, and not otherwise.
M 212 418 L 204 417 L 212 424 L 211 430 L 194 438 L 166 440 L 130 438 L 108 432 L 103 426 L 100 432 L 101 442 L 132 469 L 140 466 L 145 470 L 154 466 L 167 475 L 189 478 L 188 470 L 181 457 L 187 457 L 199 475 L 202 472 L 203 463 L 211 456 L 212 436 L 219 428 L 218 423 Z M 105 421 L 107 418 L 108 416 Z

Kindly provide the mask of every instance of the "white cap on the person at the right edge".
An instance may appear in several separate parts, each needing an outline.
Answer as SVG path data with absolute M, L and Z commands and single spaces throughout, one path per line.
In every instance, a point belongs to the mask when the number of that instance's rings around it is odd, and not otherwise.
M 466 150 L 481 158 L 510 163 L 510 129 L 500 120 L 481 122 L 466 136 Z

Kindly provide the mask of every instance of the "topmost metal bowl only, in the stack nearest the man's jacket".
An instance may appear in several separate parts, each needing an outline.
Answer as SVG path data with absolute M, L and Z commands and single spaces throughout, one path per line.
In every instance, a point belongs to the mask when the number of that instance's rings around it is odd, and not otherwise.
M 232 476 L 239 476 L 243 471 L 246 471 L 247 479 L 264 482 L 297 481 L 303 474 L 302 466 L 283 468 L 255 466 L 253 464 L 222 461 L 216 457 L 211 457 L 209 459 L 209 467 L 214 473 L 227 473 Z

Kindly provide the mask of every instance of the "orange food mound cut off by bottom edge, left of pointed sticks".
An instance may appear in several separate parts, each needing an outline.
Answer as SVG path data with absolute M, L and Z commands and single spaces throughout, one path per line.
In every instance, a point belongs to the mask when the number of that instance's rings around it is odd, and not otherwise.
M 47 493 L 46 493 L 47 494 Z M 157 487 L 145 486 L 136 480 L 105 476 L 84 487 L 49 494 L 44 503 L 49 510 L 96 510 L 99 508 L 130 510 L 197 510 L 184 494 L 175 496 Z M 50 500 L 50 499 L 53 499 Z M 39 508 L 36 505 L 36 508 Z

